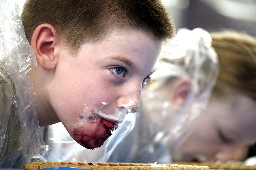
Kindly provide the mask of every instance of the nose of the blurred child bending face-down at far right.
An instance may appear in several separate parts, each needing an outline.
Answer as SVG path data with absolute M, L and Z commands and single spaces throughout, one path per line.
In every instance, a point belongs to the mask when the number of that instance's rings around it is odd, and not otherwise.
M 232 159 L 236 147 L 227 146 L 221 151 L 217 152 L 215 155 L 215 160 L 220 160 L 221 162 L 227 162 Z

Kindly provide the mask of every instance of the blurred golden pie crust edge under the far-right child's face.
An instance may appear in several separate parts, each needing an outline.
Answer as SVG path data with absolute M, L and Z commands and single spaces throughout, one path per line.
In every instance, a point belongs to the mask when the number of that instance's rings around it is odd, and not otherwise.
M 243 162 L 232 163 L 211 163 L 211 162 L 173 162 L 173 164 L 180 165 L 198 165 L 208 166 L 210 169 L 237 169 L 237 170 L 256 170 L 256 165 L 245 165 Z

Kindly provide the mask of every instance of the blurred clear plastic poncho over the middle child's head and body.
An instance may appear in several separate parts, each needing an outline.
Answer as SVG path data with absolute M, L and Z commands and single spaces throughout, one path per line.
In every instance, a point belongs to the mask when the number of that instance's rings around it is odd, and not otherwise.
M 182 28 L 170 43 L 171 46 L 162 49 L 156 72 L 152 74 L 155 83 L 142 91 L 134 129 L 108 161 L 170 163 L 172 152 L 200 120 L 219 73 L 211 36 L 202 28 Z M 162 95 L 171 96 L 172 85 L 167 88 L 163 85 L 173 77 L 192 83 L 187 100 L 179 109 L 171 98 Z

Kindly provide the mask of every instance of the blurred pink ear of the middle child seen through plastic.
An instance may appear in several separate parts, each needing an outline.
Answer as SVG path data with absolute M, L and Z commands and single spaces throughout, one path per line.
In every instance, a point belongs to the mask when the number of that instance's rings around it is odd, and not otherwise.
M 189 79 L 180 79 L 175 83 L 172 92 L 172 103 L 182 107 L 191 92 L 191 81 Z

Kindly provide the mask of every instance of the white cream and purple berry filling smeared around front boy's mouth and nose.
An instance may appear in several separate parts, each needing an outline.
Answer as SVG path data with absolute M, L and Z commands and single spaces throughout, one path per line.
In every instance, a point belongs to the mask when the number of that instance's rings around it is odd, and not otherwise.
M 139 109 L 140 101 L 130 100 L 128 104 L 118 105 L 115 113 L 102 112 L 107 102 L 101 102 L 100 107 L 84 107 L 73 127 L 73 138 L 87 149 L 95 149 L 104 144 L 108 137 L 115 133 L 118 124 L 124 120 L 127 113 Z

